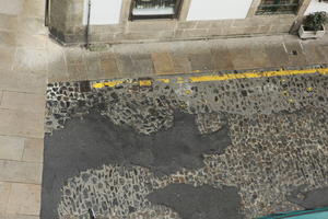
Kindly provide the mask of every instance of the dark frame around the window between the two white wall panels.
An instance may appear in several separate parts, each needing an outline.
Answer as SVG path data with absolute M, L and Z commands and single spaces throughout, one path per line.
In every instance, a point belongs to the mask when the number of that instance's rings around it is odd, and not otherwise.
M 165 19 L 174 20 L 174 19 L 178 19 L 179 15 L 180 15 L 183 2 L 184 2 L 184 0 L 176 0 L 176 4 L 175 4 L 175 9 L 174 9 L 175 13 L 174 14 L 133 15 L 134 1 L 136 0 L 131 0 L 130 11 L 129 11 L 129 21 L 138 21 L 138 20 L 165 20 Z

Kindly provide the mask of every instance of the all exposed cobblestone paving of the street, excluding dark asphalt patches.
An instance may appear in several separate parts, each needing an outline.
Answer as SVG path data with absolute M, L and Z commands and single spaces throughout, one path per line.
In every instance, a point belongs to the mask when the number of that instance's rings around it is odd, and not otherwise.
M 58 214 L 85 218 L 90 203 L 97 203 L 96 214 L 105 218 L 180 218 L 181 211 L 148 199 L 173 184 L 208 185 L 218 193 L 236 187 L 237 214 L 245 218 L 302 209 L 289 200 L 295 191 L 328 186 L 327 85 L 328 78 L 316 74 L 98 90 L 90 82 L 50 83 L 48 134 L 96 111 L 117 126 L 152 136 L 171 129 L 175 113 L 183 112 L 195 116 L 204 138 L 229 127 L 231 139 L 224 151 L 203 153 L 202 168 L 183 165 L 164 176 L 139 165 L 85 170 L 66 180 Z

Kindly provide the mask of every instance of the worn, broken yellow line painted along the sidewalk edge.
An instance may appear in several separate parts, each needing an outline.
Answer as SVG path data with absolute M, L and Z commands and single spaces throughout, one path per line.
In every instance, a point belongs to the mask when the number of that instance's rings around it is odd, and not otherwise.
M 280 71 L 263 71 L 256 72 L 249 71 L 244 73 L 227 73 L 227 74 L 208 74 L 208 76 L 195 76 L 195 77 L 177 77 L 176 83 L 197 83 L 197 82 L 209 82 L 209 81 L 226 81 L 226 80 L 235 80 L 235 79 L 254 79 L 254 78 L 269 78 L 269 77 L 279 77 L 279 76 L 297 76 L 297 74 L 328 74 L 328 68 L 323 69 L 305 69 L 305 70 L 280 70 Z M 156 81 L 161 81 L 163 83 L 169 83 L 171 79 L 156 79 Z M 104 87 L 116 87 L 122 83 L 131 83 L 131 81 L 122 81 L 122 80 L 114 80 L 109 82 L 99 82 L 94 83 L 93 88 L 101 89 Z M 152 80 L 140 80 L 140 87 L 150 87 L 152 85 Z

